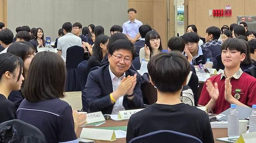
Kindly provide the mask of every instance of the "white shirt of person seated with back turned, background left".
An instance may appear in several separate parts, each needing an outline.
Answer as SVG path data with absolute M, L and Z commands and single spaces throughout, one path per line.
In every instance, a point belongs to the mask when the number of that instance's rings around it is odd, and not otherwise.
M 80 37 L 72 33 L 67 33 L 58 39 L 57 49 L 61 50 L 61 58 L 66 63 L 67 49 L 72 46 L 82 47 L 82 40 Z

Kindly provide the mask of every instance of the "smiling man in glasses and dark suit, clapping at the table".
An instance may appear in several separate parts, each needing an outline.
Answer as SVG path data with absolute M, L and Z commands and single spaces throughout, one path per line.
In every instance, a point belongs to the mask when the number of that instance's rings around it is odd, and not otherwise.
M 119 39 L 109 48 L 109 65 L 89 73 L 82 94 L 83 110 L 118 114 L 143 107 L 140 75 L 130 70 L 135 49 L 129 40 Z

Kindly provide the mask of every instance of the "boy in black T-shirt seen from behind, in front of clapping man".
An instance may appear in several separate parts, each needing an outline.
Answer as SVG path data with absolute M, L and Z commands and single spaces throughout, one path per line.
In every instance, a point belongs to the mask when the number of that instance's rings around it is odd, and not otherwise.
M 186 57 L 179 51 L 158 53 L 149 60 L 147 69 L 157 89 L 157 101 L 130 117 L 126 143 L 158 130 L 177 131 L 195 136 L 203 143 L 214 143 L 209 115 L 180 100 L 190 69 Z

